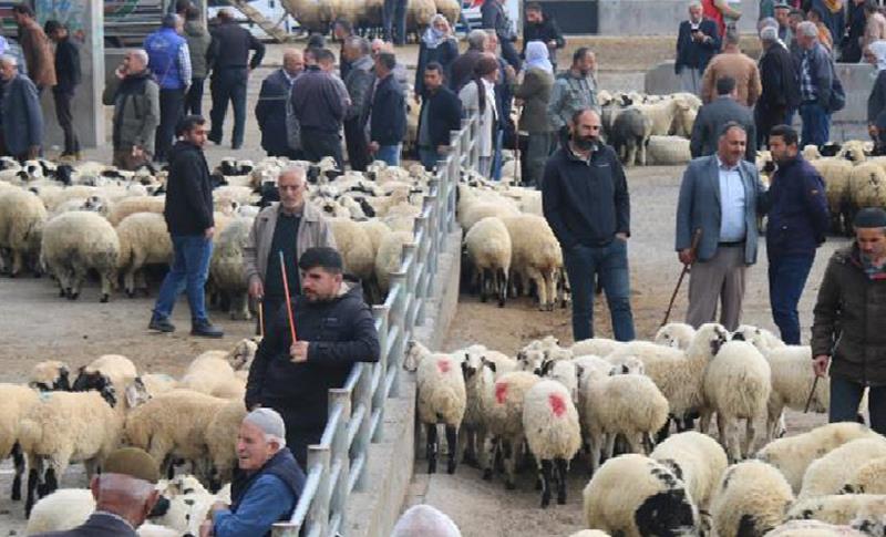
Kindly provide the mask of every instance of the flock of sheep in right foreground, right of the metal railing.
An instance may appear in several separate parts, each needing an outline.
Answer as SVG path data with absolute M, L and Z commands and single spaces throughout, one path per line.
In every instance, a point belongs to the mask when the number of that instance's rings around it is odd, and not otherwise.
M 440 425 L 449 473 L 460 459 L 484 479 L 504 468 L 513 489 L 518 461 L 534 458 L 543 507 L 566 503 L 570 461 L 587 456 L 590 529 L 576 537 L 884 535 L 886 438 L 859 423 L 780 438 L 784 409 L 826 412 L 830 388 L 814 385 L 808 347 L 766 330 L 671 323 L 655 341 L 568 348 L 547 337 L 516 358 L 412 342 L 404 368 L 432 473 Z

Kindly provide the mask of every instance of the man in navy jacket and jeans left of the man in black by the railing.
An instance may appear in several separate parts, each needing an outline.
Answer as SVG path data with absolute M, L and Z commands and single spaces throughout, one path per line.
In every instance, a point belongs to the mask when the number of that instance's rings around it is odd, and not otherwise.
M 406 102 L 394 80 L 396 56 L 382 52 L 375 59 L 375 89 L 369 124 L 369 151 L 389 166 L 400 165 L 400 151 L 406 135 Z

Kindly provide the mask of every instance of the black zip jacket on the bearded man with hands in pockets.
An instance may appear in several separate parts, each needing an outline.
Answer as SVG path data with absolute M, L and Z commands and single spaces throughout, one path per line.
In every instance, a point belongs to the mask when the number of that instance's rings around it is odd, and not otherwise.
M 630 197 L 615 149 L 600 145 L 590 162 L 560 147 L 548 158 L 542 186 L 545 218 L 564 251 L 606 246 L 615 234 L 630 235 Z

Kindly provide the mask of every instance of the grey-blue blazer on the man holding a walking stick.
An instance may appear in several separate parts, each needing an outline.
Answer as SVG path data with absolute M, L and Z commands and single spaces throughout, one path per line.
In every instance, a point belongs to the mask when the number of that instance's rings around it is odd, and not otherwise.
M 765 213 L 766 193 L 760 183 L 756 167 L 739 162 L 739 174 L 744 183 L 744 262 L 756 262 L 756 240 L 759 236 L 756 215 Z M 692 233 L 701 228 L 701 241 L 696 257 L 699 261 L 711 259 L 720 241 L 720 176 L 717 169 L 717 155 L 703 156 L 689 163 L 680 185 L 680 200 L 677 204 L 677 251 L 692 246 Z

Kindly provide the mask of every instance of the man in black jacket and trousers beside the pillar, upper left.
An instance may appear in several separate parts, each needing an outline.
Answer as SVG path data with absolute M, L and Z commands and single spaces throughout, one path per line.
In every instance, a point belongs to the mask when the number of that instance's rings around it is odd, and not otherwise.
M 55 76 L 58 83 L 52 89 L 55 100 L 55 116 L 64 133 L 64 151 L 62 158 L 80 159 L 80 142 L 74 131 L 74 116 L 71 113 L 71 101 L 74 90 L 81 81 L 80 51 L 68 37 L 68 27 L 56 20 L 45 24 L 47 35 L 55 42 Z

